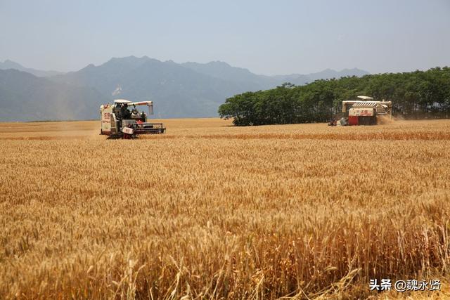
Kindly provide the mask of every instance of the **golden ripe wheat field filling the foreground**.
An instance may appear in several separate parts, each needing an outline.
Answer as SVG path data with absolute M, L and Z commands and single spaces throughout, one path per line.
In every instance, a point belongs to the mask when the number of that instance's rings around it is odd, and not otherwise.
M 162 122 L 1 124 L 0 299 L 450 296 L 449 120 Z

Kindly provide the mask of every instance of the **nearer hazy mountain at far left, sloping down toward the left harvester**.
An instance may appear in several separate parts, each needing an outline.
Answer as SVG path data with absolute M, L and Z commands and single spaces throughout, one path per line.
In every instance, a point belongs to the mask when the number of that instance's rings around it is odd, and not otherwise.
M 58 84 L 18 70 L 0 70 L 0 121 L 96 119 L 108 101 L 96 89 Z

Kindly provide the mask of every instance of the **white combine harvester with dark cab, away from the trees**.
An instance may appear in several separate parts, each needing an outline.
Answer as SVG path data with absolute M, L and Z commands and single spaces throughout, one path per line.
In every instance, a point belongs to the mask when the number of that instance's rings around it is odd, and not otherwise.
M 114 104 L 101 105 L 100 134 L 110 138 L 136 138 L 139 134 L 165 133 L 162 123 L 148 123 L 146 112 L 136 110 L 136 105 L 147 105 L 148 115 L 153 115 L 153 101 L 131 102 L 117 99 Z M 131 111 L 129 107 L 132 107 Z

